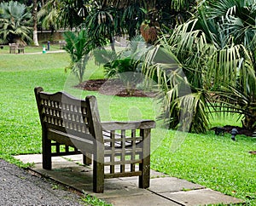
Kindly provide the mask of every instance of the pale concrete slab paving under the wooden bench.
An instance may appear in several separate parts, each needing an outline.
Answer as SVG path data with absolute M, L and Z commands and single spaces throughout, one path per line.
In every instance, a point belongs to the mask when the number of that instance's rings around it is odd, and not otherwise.
M 129 177 L 105 180 L 104 193 L 94 193 L 92 192 L 92 169 L 81 166 L 81 155 L 53 157 L 52 170 L 42 169 L 42 156 L 40 154 L 15 157 L 23 163 L 34 163 L 31 169 L 40 175 L 71 186 L 79 192 L 86 192 L 104 199 L 107 203 L 113 203 L 114 206 L 242 203 L 241 199 L 153 170 L 148 189 L 139 189 L 137 187 L 138 178 Z

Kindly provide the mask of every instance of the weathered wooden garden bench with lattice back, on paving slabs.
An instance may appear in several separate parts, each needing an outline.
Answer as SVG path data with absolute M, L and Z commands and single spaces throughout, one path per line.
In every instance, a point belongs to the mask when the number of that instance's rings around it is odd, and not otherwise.
M 51 157 L 82 153 L 84 164 L 93 159 L 93 191 L 103 192 L 104 179 L 139 176 L 147 188 L 150 177 L 152 120 L 101 122 L 95 96 L 79 100 L 64 92 L 34 89 L 43 131 L 43 168 Z

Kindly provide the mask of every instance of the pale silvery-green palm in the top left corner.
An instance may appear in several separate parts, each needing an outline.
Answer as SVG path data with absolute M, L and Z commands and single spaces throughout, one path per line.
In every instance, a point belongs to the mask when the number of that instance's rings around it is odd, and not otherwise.
M 0 39 L 4 43 L 31 42 L 32 18 L 29 8 L 18 2 L 0 3 Z

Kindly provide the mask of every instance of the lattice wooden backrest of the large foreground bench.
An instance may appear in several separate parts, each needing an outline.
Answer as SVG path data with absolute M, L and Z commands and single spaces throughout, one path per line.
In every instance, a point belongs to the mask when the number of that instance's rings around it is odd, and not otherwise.
M 49 94 L 40 87 L 34 90 L 43 129 L 61 131 L 67 136 L 93 137 L 99 143 L 103 143 L 95 96 L 79 100 L 64 92 Z

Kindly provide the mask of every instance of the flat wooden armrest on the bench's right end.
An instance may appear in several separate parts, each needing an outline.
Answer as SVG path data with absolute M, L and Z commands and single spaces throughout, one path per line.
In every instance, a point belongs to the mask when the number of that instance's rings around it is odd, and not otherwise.
M 153 120 L 128 121 L 128 122 L 102 122 L 103 130 L 121 130 L 121 129 L 154 129 L 155 122 Z

